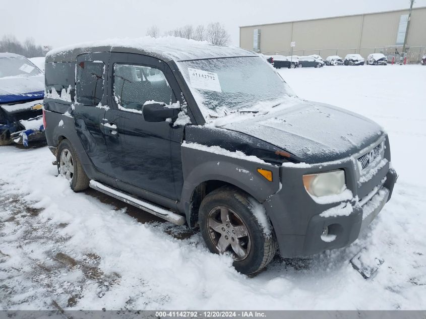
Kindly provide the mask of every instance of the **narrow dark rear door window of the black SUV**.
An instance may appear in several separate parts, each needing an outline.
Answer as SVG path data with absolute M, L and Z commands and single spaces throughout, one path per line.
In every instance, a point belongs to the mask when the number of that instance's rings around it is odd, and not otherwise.
M 82 61 L 77 65 L 76 100 L 96 106 L 102 100 L 105 64 L 102 61 Z

